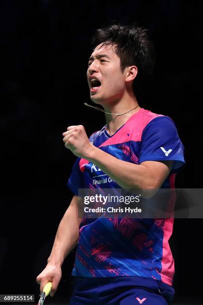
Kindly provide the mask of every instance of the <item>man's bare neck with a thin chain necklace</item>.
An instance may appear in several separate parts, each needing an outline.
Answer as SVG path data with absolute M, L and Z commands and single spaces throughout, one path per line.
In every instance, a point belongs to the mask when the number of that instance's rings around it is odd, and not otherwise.
M 121 99 L 115 104 L 111 105 L 103 105 L 103 108 L 106 112 L 109 113 L 125 113 L 129 109 L 133 109 L 136 106 L 138 106 L 138 102 L 136 97 L 133 95 L 132 97 L 128 99 Z M 123 115 L 113 115 L 113 114 L 105 114 L 105 119 L 106 119 L 106 131 L 109 135 L 113 135 L 116 130 L 118 130 L 125 122 L 136 112 L 140 110 L 140 107 L 138 106 L 137 108 L 133 109 L 132 111 L 123 114 Z

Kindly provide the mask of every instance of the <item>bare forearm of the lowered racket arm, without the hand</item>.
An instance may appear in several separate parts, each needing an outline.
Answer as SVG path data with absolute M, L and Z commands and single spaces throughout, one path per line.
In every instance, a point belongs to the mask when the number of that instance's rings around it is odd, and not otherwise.
M 77 197 L 75 196 L 59 224 L 48 263 L 61 266 L 66 256 L 78 243 L 81 219 L 78 217 L 78 203 L 76 201 Z

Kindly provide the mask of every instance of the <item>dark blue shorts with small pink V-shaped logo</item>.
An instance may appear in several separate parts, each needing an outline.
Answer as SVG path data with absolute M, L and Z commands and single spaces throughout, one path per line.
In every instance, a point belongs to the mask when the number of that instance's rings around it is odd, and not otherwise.
M 137 276 L 74 278 L 70 305 L 168 305 L 175 294 L 172 286 Z

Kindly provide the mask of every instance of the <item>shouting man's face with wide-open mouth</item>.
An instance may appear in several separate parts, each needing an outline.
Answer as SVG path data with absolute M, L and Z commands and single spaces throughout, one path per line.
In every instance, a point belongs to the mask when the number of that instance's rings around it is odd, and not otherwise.
M 118 101 L 125 90 L 125 70 L 114 46 L 99 44 L 92 53 L 87 71 L 91 100 L 98 104 Z

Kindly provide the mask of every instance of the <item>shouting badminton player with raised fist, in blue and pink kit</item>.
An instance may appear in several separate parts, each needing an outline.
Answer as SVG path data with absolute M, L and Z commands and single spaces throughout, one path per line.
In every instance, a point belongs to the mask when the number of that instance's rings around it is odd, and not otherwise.
M 106 125 L 89 139 L 81 125 L 63 133 L 65 147 L 78 157 L 68 181 L 74 196 L 37 282 L 42 291 L 51 281 L 53 295 L 61 265 L 78 243 L 70 304 L 165 305 L 174 296 L 168 243 L 173 219 L 78 217 L 79 188 L 153 193 L 173 188 L 175 173 L 184 164 L 174 122 L 140 108 L 135 96 L 138 82 L 153 66 L 146 30 L 110 25 L 97 30 L 93 45 L 87 78 L 91 100 L 104 108 Z

